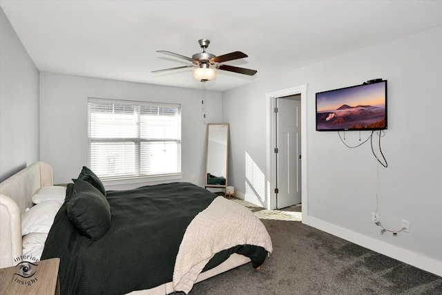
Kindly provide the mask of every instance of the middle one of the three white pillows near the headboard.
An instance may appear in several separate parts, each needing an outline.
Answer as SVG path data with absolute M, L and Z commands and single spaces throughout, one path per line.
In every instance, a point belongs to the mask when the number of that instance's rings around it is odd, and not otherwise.
M 59 211 L 64 200 L 48 200 L 23 213 L 21 216 L 21 236 L 30 233 L 48 234 L 55 215 Z

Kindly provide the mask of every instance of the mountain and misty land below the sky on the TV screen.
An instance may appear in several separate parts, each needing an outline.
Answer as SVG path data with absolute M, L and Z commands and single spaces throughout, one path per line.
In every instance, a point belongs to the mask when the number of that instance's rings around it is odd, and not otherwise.
M 334 111 L 316 114 L 318 129 L 384 129 L 385 108 L 343 104 Z

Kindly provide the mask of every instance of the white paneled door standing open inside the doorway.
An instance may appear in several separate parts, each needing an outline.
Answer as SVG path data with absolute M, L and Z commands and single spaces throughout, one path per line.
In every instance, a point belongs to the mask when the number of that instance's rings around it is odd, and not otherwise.
M 276 98 L 276 207 L 301 202 L 301 102 L 294 97 Z

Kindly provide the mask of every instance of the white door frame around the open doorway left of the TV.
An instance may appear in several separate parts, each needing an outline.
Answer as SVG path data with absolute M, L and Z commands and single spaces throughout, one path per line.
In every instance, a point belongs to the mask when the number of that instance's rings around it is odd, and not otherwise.
M 266 93 L 267 108 L 267 196 L 268 209 L 276 209 L 276 157 L 274 148 L 276 147 L 276 98 L 289 95 L 301 95 L 301 200 L 302 219 L 308 214 L 307 209 L 307 84 L 285 88 L 279 91 Z

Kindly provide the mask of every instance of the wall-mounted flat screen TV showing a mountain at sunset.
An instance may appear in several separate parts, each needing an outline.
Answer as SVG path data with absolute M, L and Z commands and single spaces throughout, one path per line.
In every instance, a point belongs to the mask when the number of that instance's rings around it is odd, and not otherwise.
M 316 93 L 317 131 L 387 129 L 387 80 Z

